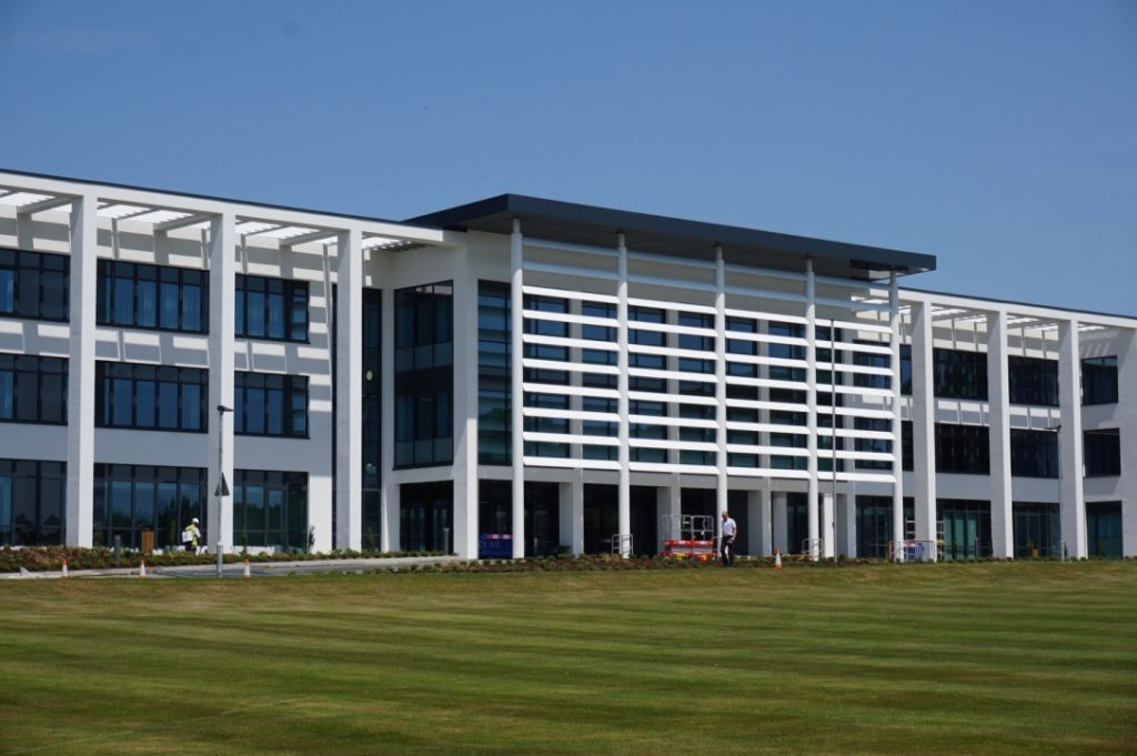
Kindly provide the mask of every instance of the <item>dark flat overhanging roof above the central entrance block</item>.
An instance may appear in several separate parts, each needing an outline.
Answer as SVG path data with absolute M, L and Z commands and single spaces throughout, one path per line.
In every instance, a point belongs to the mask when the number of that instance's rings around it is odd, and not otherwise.
M 839 279 L 877 280 L 893 271 L 897 275 L 936 269 L 933 255 L 903 252 L 880 247 L 795 236 L 791 234 L 683 221 L 662 215 L 614 210 L 556 200 L 501 194 L 470 205 L 408 218 L 404 223 L 455 231 L 513 232 L 521 219 L 526 236 L 614 249 L 623 232 L 629 249 L 656 255 L 713 260 L 715 247 L 723 248 L 728 263 L 805 271 L 813 258 L 820 275 Z

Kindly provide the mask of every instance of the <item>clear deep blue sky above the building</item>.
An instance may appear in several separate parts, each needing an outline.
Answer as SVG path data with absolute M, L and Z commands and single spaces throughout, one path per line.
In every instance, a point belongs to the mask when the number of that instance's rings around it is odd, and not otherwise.
M 1137 1 L 0 0 L 0 167 L 399 219 L 504 192 L 1137 315 Z

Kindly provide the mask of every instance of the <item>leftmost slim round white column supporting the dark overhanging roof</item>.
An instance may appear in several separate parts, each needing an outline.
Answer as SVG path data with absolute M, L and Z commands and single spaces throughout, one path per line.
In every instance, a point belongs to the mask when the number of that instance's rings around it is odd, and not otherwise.
M 509 379 L 511 430 L 513 452 L 513 558 L 525 556 L 525 373 L 522 365 L 525 327 L 525 292 L 522 290 L 524 239 L 521 219 L 513 219 L 509 236 Z

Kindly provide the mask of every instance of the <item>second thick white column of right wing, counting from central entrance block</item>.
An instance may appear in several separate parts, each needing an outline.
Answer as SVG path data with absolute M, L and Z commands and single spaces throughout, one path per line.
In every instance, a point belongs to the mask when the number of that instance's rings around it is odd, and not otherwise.
M 987 315 L 987 417 L 990 426 L 991 548 L 994 556 L 1014 556 L 1011 495 L 1011 384 L 1007 368 L 1006 313 Z

